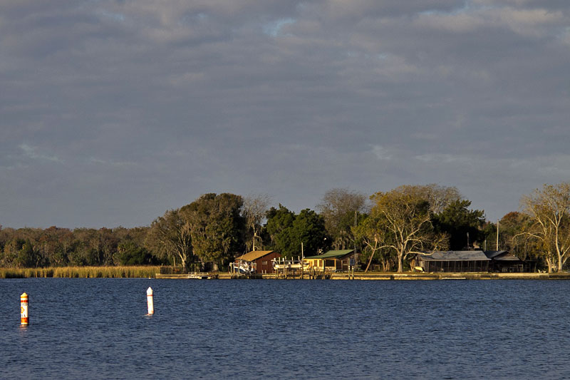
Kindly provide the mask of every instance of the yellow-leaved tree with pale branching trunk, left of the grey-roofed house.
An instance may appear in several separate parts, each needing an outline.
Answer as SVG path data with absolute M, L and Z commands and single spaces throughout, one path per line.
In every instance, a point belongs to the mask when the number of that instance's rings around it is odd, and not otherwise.
M 371 197 L 374 205 L 369 223 L 373 230 L 368 235 L 378 239 L 377 249 L 389 248 L 395 252 L 398 272 L 403 272 L 404 262 L 412 255 L 446 246 L 446 237 L 433 230 L 430 202 L 419 190 L 400 186 Z

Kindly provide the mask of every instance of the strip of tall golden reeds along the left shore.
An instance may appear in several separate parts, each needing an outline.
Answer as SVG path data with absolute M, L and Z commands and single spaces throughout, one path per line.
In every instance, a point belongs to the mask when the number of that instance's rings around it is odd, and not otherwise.
M 155 277 L 160 267 L 47 267 L 0 268 L 0 278 L 65 277 L 65 278 L 148 278 Z

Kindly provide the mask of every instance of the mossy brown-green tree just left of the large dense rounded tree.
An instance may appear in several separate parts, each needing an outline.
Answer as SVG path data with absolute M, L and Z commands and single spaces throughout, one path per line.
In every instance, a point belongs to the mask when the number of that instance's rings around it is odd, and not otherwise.
M 158 258 L 168 257 L 174 265 L 178 259 L 182 268 L 188 267 L 193 257 L 192 237 L 190 224 L 180 210 L 168 210 L 152 222 L 145 246 Z

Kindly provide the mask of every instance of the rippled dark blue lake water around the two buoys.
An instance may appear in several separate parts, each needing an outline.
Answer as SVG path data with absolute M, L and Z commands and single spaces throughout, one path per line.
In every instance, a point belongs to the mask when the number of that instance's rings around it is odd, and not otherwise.
M 555 280 L 1 279 L 0 379 L 569 379 L 569 289 Z

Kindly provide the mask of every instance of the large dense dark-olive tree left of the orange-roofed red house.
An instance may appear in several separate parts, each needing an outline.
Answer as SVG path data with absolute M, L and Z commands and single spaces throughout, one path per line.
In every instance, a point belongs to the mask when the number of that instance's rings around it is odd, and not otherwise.
M 244 219 L 240 195 L 204 194 L 180 209 L 190 227 L 192 249 L 202 265 L 224 266 L 243 247 Z

